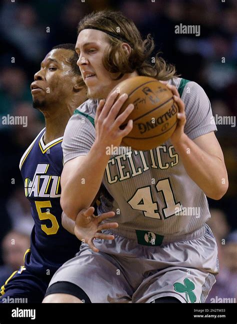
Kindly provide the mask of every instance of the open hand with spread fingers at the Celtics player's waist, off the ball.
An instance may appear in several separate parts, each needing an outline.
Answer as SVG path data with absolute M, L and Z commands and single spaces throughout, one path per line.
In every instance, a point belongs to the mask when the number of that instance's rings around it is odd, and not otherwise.
M 113 235 L 100 233 L 101 230 L 118 227 L 117 223 L 102 223 L 103 220 L 113 217 L 114 212 L 108 212 L 99 216 L 93 215 L 94 208 L 82 209 L 76 216 L 74 234 L 82 242 L 87 243 L 94 252 L 99 250 L 95 248 L 93 239 L 113 240 Z

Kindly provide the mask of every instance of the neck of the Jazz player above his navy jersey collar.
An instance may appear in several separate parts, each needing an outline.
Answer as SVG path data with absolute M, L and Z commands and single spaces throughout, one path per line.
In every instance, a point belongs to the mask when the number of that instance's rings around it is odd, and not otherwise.
M 44 144 L 48 144 L 56 138 L 62 137 L 69 118 L 74 109 L 57 107 L 53 113 L 44 114 L 45 133 L 43 136 Z

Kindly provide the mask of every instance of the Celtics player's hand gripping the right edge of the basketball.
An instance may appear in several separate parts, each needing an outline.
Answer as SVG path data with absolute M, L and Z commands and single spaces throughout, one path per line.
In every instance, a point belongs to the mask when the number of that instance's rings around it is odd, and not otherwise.
M 186 116 L 184 111 L 185 105 L 179 96 L 177 88 L 174 85 L 170 85 L 170 84 L 166 84 L 166 86 L 172 92 L 173 100 L 176 102 L 178 106 L 177 126 L 170 137 L 172 144 L 175 145 L 175 143 L 178 143 L 182 140 L 182 137 L 184 135 L 184 125 L 186 123 Z

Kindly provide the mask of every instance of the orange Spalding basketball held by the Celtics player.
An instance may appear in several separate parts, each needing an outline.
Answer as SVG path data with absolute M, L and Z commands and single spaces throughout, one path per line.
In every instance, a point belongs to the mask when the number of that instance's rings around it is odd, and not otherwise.
M 134 109 L 120 126 L 124 128 L 129 119 L 133 120 L 133 128 L 121 145 L 146 151 L 164 143 L 172 135 L 178 107 L 165 84 L 151 77 L 135 76 L 117 84 L 116 89 L 120 94 L 128 94 L 119 114 L 129 103 L 134 104 Z

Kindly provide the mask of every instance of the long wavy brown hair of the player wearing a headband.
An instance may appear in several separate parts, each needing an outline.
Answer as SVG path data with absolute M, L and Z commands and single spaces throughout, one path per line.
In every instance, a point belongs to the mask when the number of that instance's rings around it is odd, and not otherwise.
M 125 73 L 134 71 L 138 75 L 150 76 L 163 81 L 177 76 L 174 65 L 166 63 L 159 53 L 153 57 L 154 62 L 151 63 L 150 55 L 154 49 L 151 35 L 148 34 L 142 40 L 134 22 L 121 12 L 102 10 L 84 16 L 78 24 L 78 34 L 88 27 L 103 29 L 108 33 L 116 34 L 119 38 L 106 34 L 109 46 L 103 57 L 103 65 L 109 72 L 120 72 L 116 79 L 120 79 Z M 130 54 L 127 54 L 121 46 L 124 42 L 130 45 Z

